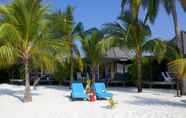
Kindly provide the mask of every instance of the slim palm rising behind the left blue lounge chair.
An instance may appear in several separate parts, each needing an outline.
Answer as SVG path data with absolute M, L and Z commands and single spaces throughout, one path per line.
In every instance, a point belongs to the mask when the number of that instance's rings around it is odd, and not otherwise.
M 53 13 L 49 16 L 51 32 L 55 38 L 65 40 L 70 46 L 70 80 L 73 81 L 74 58 L 80 59 L 80 53 L 75 45 L 78 34 L 82 32 L 82 24 L 75 25 L 73 17 L 74 8 L 68 6 L 66 11 Z

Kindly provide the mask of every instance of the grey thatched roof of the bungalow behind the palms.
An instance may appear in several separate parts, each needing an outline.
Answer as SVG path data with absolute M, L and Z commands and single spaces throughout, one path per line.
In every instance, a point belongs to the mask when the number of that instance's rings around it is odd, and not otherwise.
M 103 59 L 127 61 L 130 59 L 129 50 L 127 48 L 111 48 L 102 57 Z

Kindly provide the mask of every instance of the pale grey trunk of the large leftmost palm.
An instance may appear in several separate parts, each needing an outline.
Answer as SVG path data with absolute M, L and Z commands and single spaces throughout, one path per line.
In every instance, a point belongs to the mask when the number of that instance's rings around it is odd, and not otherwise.
M 29 68 L 28 68 L 28 59 L 26 59 L 25 63 L 25 93 L 23 102 L 31 102 L 32 101 L 32 95 L 31 95 L 31 89 L 30 89 L 30 80 L 29 80 Z

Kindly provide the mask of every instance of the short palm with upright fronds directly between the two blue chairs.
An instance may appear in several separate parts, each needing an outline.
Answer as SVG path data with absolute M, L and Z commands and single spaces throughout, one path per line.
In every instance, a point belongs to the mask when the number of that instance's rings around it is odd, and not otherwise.
M 96 80 L 96 69 L 104 52 L 104 46 L 101 43 L 104 38 L 103 33 L 96 28 L 81 33 L 82 48 L 88 61 L 88 67 L 90 67 L 92 72 L 92 82 Z

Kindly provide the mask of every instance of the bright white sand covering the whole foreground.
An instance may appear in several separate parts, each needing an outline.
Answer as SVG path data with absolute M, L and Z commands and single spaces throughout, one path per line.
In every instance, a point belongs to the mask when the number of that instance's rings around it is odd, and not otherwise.
M 108 101 L 75 101 L 70 90 L 60 86 L 40 86 L 32 91 L 33 102 L 22 103 L 23 86 L 0 85 L 0 118 L 186 118 L 186 97 L 173 90 L 112 88 L 115 109 Z

